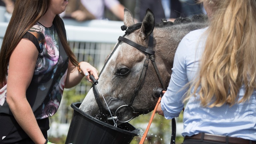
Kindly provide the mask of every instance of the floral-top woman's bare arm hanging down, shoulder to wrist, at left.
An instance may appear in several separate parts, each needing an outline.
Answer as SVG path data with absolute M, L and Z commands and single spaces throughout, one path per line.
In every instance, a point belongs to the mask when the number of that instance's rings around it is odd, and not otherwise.
M 36 144 L 43 144 L 45 138 L 26 98 L 26 90 L 33 77 L 37 56 L 36 46 L 27 39 L 21 39 L 9 61 L 6 102 L 28 136 Z

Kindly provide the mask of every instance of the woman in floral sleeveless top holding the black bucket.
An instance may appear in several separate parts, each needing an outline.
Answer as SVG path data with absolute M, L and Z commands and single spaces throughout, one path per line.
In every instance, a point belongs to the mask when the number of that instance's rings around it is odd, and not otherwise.
M 16 0 L 0 52 L 0 143 L 50 143 L 49 117 L 64 88 L 84 75 L 98 79 L 87 62 L 78 63 L 59 17 L 68 0 Z M 91 80 L 89 80 L 91 82 Z

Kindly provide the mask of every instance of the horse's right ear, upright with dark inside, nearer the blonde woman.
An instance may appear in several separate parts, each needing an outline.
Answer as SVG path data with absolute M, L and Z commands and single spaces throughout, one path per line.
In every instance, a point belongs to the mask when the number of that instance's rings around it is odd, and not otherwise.
M 143 40 L 148 37 L 155 27 L 155 16 L 150 9 L 147 9 L 146 15 L 142 21 L 142 26 L 140 29 L 141 38 Z

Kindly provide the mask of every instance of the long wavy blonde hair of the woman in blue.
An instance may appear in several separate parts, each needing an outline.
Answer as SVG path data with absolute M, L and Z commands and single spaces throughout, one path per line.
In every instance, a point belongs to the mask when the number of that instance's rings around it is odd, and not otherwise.
M 201 1 L 211 17 L 192 95 L 198 93 L 204 107 L 245 102 L 256 88 L 256 1 Z M 242 85 L 245 94 L 238 101 Z

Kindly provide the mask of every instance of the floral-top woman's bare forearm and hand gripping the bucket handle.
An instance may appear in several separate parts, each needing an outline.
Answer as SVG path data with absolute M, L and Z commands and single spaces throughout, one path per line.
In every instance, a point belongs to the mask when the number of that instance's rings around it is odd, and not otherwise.
M 98 79 L 98 71 L 96 68 L 91 66 L 88 62 L 81 62 L 80 68 L 82 72 L 88 76 L 86 76 L 86 79 L 92 82 L 89 78 L 89 76 L 92 74 L 95 79 Z M 87 74 L 86 74 L 87 73 Z M 68 73 L 65 83 L 65 88 L 71 88 L 79 84 L 84 76 L 80 74 L 80 72 L 77 69 L 77 66 L 74 66 L 70 61 L 68 63 Z

